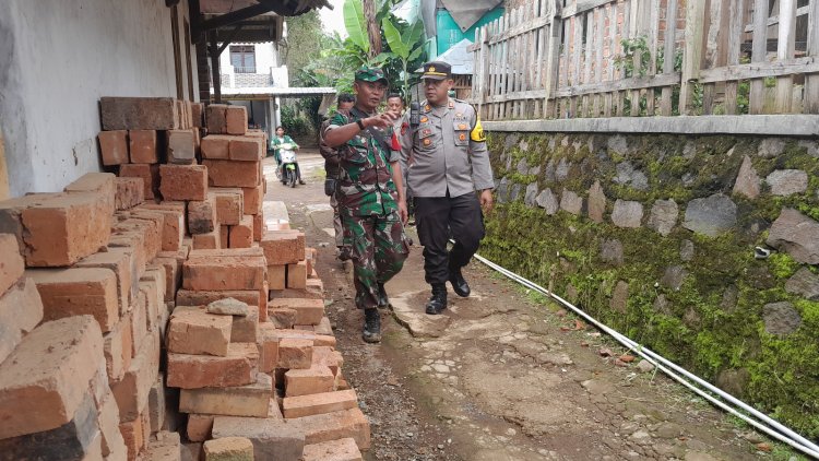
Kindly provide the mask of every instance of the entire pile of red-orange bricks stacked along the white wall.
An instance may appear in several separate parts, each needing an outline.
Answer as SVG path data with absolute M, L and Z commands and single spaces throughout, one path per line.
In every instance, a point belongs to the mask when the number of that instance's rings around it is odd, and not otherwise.
M 201 106 L 104 98 L 103 159 L 124 176 L 0 202 L 0 459 L 369 448 L 316 250 L 281 202 L 264 221 L 266 140 L 242 131 L 244 108 L 211 108 L 202 151 L 227 153 L 198 164 Z

